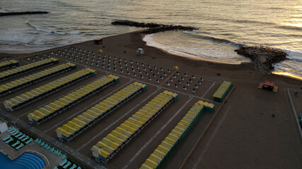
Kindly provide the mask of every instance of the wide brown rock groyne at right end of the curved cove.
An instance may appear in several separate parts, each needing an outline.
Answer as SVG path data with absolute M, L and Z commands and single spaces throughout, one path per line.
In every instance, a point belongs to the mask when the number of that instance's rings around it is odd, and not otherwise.
M 274 70 L 272 63 L 278 63 L 286 59 L 286 54 L 280 49 L 265 46 L 243 46 L 235 50 L 237 54 L 246 56 L 252 60 L 256 70 L 269 74 Z

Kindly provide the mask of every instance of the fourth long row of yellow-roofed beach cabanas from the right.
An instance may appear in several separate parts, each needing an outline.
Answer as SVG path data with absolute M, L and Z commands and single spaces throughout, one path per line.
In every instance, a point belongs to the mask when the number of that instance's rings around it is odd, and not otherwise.
M 47 104 L 32 113 L 28 113 L 28 122 L 34 123 L 35 125 L 39 125 L 40 123 L 45 122 L 46 120 L 50 120 L 50 118 L 55 115 L 62 113 L 66 109 L 79 104 L 80 101 L 87 99 L 89 96 L 100 92 L 100 90 L 105 87 L 110 86 L 115 82 L 119 82 L 120 78 L 115 75 L 107 75 L 103 76 L 98 80 L 91 82 L 90 84 L 77 89 L 74 92 L 66 94 L 65 96 L 57 99 L 56 101 L 52 101 L 52 103 Z

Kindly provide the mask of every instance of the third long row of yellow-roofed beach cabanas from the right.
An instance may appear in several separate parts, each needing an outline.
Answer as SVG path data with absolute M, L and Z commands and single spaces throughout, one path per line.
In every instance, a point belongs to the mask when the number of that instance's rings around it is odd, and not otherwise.
M 88 111 L 70 120 L 62 127 L 58 127 L 56 130 L 57 136 L 59 139 L 69 142 L 71 139 L 74 139 L 74 137 L 87 130 L 89 127 L 97 123 L 116 108 L 129 101 L 129 99 L 132 99 L 134 96 L 145 90 L 146 84 L 141 84 L 139 82 L 129 84 L 119 92 L 112 94 L 112 96 L 109 96 L 99 104 L 96 104 L 92 108 L 88 109 Z

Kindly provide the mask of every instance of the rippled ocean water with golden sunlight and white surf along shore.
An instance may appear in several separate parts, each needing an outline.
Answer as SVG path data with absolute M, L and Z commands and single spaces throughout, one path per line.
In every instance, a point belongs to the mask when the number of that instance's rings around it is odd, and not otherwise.
M 238 64 L 242 45 L 282 49 L 289 60 L 275 73 L 302 77 L 301 0 L 2 0 L 0 12 L 50 11 L 47 15 L 0 17 L 0 50 L 38 51 L 141 30 L 114 26 L 134 20 L 198 27 L 191 32 L 147 35 L 150 46 L 180 56 Z

